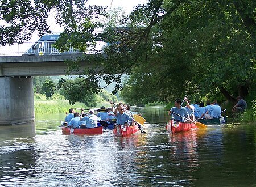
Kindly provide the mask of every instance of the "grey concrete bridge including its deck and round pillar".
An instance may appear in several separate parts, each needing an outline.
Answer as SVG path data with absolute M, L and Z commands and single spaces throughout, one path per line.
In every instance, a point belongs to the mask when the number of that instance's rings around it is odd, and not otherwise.
M 95 54 L 86 54 L 91 56 Z M 0 125 L 35 121 L 32 76 L 65 75 L 66 60 L 75 60 L 82 54 L 49 56 L 0 57 Z M 89 67 L 80 62 L 81 71 Z M 76 71 L 72 74 L 79 74 Z

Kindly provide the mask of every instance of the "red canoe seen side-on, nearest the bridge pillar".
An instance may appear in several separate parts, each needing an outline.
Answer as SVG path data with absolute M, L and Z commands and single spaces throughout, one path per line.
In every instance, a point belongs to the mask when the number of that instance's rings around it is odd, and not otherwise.
M 88 129 L 79 129 L 79 128 L 67 128 L 63 127 L 62 133 L 65 134 L 102 134 L 102 126 L 98 126 L 96 128 L 88 128 Z

